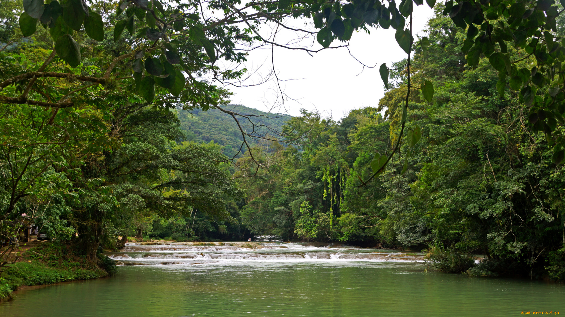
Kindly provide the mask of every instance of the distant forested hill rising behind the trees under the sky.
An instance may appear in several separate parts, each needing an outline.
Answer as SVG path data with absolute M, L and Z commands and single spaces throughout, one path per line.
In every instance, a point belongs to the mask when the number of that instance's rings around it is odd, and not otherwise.
M 281 130 L 281 126 L 286 121 L 290 120 L 290 116 L 282 115 L 279 113 L 263 112 L 254 108 L 245 107 L 244 105 L 228 105 L 228 110 L 241 113 L 242 115 L 256 115 L 264 117 L 255 117 L 253 122 L 255 124 L 262 124 L 271 127 L 277 131 Z M 210 142 L 214 141 L 221 146 L 227 146 L 224 150 L 226 155 L 230 155 L 229 146 L 233 149 L 233 154 L 241 146 L 243 140 L 241 132 L 237 127 L 236 122 L 227 113 L 221 112 L 218 109 L 210 109 L 202 111 L 201 109 L 194 109 L 192 111 L 179 110 L 178 115 L 181 122 L 181 129 L 186 134 L 186 140 L 197 142 Z M 238 118 L 245 129 L 250 129 L 251 124 L 245 118 Z M 259 129 L 259 133 L 266 133 L 266 128 Z M 250 131 L 250 130 L 249 130 Z M 248 140 L 251 146 L 257 144 L 254 139 Z

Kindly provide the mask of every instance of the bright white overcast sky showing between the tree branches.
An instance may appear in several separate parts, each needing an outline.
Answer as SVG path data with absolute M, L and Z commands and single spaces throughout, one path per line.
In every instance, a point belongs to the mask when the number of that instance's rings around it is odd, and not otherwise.
M 413 33 L 423 36 L 421 30 L 432 15 L 433 10 L 427 5 L 414 6 Z M 260 33 L 267 37 L 268 34 L 263 34 L 266 32 L 268 30 Z M 262 111 L 268 111 L 274 104 L 276 107 L 273 112 L 285 112 L 286 108 L 286 113 L 293 116 L 299 115 L 301 108 L 309 111 L 317 109 L 324 117 L 332 115 L 334 120 L 346 116 L 352 109 L 377 107 L 384 95 L 379 66 L 386 63 L 390 67 L 393 62 L 406 58 L 405 52 L 394 39 L 394 32 L 393 28 L 387 30 L 379 27 L 371 29 L 371 34 L 353 34 L 349 46 L 351 54 L 366 65 L 377 64 L 375 68 L 365 68 L 361 74 L 362 65 L 349 55 L 345 47 L 323 50 L 313 54 L 314 57 L 305 51 L 275 47 L 273 61 L 277 75 L 281 80 L 290 80 L 281 82 L 281 88 L 289 98 L 297 101 L 288 99 L 282 106 L 280 98 L 277 99 L 276 81 L 270 80 L 259 86 L 227 86 L 235 93 L 231 98 L 232 103 Z M 336 40 L 331 46 L 340 43 Z M 313 49 L 320 48 L 321 45 L 315 42 Z M 245 83 L 260 82 L 260 78 L 271 72 L 271 47 L 251 51 L 247 59 L 244 67 L 254 73 Z

